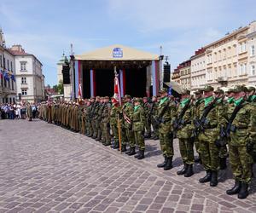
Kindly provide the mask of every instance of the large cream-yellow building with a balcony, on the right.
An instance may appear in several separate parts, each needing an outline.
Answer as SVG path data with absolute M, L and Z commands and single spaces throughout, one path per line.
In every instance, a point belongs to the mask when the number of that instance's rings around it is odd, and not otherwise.
M 206 84 L 232 87 L 248 84 L 247 34 L 255 31 L 256 22 L 204 47 L 206 49 Z

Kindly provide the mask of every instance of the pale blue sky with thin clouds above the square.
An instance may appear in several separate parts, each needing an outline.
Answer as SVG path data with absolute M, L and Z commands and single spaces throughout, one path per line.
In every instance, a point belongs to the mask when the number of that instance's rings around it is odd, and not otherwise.
M 256 20 L 256 0 L 0 0 L 6 44 L 43 64 L 45 84 L 70 44 L 79 55 L 123 44 L 169 57 L 172 70 L 207 43 Z

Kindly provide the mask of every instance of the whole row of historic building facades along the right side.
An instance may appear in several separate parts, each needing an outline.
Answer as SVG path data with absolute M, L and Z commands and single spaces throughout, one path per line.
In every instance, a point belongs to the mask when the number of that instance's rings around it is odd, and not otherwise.
M 256 84 L 256 21 L 240 27 L 225 37 L 209 43 L 195 52 L 191 60 L 191 89 L 207 85 L 233 87 L 236 84 Z M 177 67 L 178 68 L 178 67 Z M 180 83 L 189 89 L 188 69 L 178 68 Z M 174 77 L 173 72 L 172 79 Z M 185 76 L 184 76 L 185 75 Z

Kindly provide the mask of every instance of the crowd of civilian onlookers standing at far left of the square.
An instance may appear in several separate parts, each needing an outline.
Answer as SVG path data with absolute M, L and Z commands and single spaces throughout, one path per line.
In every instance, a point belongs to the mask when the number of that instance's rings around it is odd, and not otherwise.
M 37 104 L 30 103 L 15 103 L 15 104 L 0 104 L 0 119 L 25 119 L 27 118 L 26 109 L 28 106 L 32 107 L 32 118 L 38 117 Z

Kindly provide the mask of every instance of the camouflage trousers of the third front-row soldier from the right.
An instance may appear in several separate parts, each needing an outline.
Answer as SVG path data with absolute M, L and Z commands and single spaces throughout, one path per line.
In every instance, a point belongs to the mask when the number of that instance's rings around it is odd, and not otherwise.
M 179 138 L 179 152 L 184 164 L 194 164 L 194 143 L 189 138 Z

